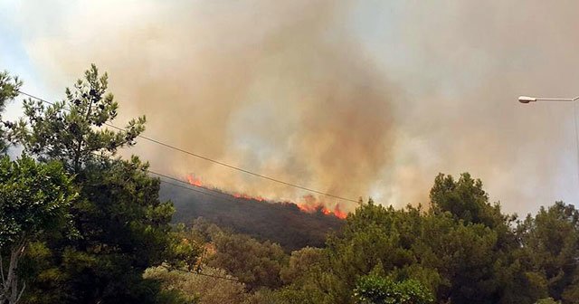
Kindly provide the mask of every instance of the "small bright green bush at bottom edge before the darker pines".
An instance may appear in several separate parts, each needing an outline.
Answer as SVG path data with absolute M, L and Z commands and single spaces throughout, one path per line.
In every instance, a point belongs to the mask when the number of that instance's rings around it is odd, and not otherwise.
M 360 278 L 354 290 L 356 304 L 427 304 L 432 293 L 416 280 L 394 282 L 375 275 Z

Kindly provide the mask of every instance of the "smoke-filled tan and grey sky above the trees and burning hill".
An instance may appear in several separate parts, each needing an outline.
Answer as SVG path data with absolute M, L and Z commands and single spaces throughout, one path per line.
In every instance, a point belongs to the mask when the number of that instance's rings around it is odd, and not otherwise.
M 400 206 L 427 203 L 439 172 L 468 171 L 526 214 L 579 198 L 573 105 L 517 102 L 579 95 L 578 11 L 539 0 L 0 0 L 0 69 L 60 99 L 97 63 L 119 120 L 146 114 L 148 136 L 292 183 Z M 132 152 L 233 191 L 306 194 L 146 142 Z

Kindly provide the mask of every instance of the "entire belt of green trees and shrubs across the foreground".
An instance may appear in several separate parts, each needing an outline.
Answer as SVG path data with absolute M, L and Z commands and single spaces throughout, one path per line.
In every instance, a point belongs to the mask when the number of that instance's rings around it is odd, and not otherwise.
M 0 73 L 0 110 L 22 84 Z M 427 205 L 368 200 L 344 221 L 294 210 L 256 230 L 176 214 L 147 161 L 119 157 L 147 119 L 109 128 L 119 103 L 95 65 L 62 101 L 23 109 L 0 122 L 0 304 L 579 303 L 573 204 L 519 217 L 476 177 L 440 174 Z

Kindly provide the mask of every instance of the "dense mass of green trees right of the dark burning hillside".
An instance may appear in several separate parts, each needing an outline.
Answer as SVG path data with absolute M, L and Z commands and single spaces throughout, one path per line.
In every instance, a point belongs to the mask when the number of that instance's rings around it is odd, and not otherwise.
M 490 204 L 468 174 L 437 176 L 431 198 L 430 208 L 370 201 L 325 248 L 285 257 L 268 242 L 206 221 L 190 233 L 212 252 L 204 263 L 247 283 L 238 298 L 245 303 L 576 302 L 573 205 L 556 203 L 517 220 Z

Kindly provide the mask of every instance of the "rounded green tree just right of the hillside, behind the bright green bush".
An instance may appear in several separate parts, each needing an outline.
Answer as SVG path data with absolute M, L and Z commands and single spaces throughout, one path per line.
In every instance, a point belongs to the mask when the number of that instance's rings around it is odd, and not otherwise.
M 342 233 L 328 239 L 327 268 L 312 273 L 304 285 L 318 285 L 328 297 L 326 302 L 349 303 L 361 276 L 372 271 L 388 274 L 415 264 L 413 246 L 420 239 L 421 214 L 420 208 L 397 211 L 371 201 L 358 207 L 346 219 Z

